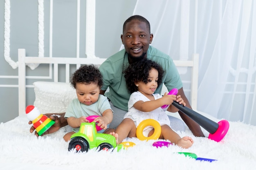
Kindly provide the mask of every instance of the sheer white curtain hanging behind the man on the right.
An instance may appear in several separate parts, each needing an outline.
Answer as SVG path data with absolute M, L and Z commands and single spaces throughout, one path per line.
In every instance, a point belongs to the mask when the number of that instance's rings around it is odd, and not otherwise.
M 133 14 L 173 59 L 199 53 L 198 110 L 256 125 L 255 0 L 137 0 Z

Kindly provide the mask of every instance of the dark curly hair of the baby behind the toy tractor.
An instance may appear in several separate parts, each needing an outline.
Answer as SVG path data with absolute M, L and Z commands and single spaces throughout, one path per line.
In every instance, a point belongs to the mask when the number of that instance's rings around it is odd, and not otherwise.
M 76 88 L 76 83 L 95 83 L 101 87 L 103 84 L 101 72 L 93 64 L 81 66 L 72 74 L 71 85 L 74 88 Z

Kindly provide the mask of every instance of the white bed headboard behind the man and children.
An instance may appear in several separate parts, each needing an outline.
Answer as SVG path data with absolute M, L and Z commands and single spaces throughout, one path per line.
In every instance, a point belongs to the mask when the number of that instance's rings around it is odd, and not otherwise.
M 76 64 L 79 68 L 81 64 L 102 64 L 105 58 L 76 58 L 76 57 L 27 57 L 25 49 L 18 49 L 18 106 L 19 115 L 25 112 L 26 108 L 26 87 L 32 87 L 26 84 L 26 79 L 32 76 L 26 75 L 26 64 L 53 64 L 53 81 L 58 82 L 58 64 L 65 65 L 65 82 L 70 81 L 70 65 Z M 194 110 L 197 108 L 198 93 L 198 62 L 199 55 L 193 54 L 193 60 L 182 61 L 174 60 L 177 67 L 191 67 L 191 90 L 190 104 Z

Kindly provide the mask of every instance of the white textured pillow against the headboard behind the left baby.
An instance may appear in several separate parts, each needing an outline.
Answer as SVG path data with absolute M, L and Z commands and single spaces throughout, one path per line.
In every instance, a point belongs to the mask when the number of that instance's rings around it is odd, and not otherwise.
M 34 82 L 36 106 L 40 113 L 63 113 L 72 99 L 77 98 L 76 90 L 70 83 Z

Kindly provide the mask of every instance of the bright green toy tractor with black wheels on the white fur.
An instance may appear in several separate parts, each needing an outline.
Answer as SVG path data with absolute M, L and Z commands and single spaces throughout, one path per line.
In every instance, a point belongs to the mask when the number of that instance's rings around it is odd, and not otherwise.
M 74 133 L 70 138 L 68 150 L 75 150 L 76 152 L 87 152 L 92 148 L 99 148 L 99 150 L 110 150 L 117 148 L 117 151 L 125 149 L 123 145 L 117 144 L 114 136 L 104 133 L 97 133 L 96 124 L 83 122 L 80 126 L 79 132 Z

